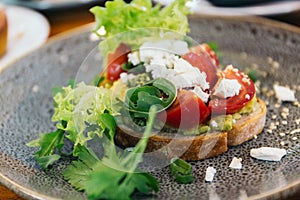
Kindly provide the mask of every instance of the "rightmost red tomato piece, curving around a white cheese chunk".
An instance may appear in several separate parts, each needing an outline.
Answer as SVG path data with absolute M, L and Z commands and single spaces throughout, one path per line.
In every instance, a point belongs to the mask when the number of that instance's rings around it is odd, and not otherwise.
M 236 68 L 227 67 L 222 73 L 226 79 L 236 79 L 241 85 L 238 95 L 227 99 L 213 98 L 209 102 L 209 109 L 212 114 L 233 114 L 238 112 L 255 95 L 255 86 L 252 80 Z

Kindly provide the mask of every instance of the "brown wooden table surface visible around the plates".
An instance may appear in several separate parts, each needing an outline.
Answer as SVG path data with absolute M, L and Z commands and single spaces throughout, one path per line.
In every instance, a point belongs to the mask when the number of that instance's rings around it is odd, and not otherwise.
M 74 13 L 76 14 L 74 15 Z M 54 11 L 43 14 L 50 22 L 51 31 L 49 37 L 53 37 L 64 31 L 68 31 L 94 21 L 93 15 L 89 13 L 86 8 L 77 8 L 72 11 Z M 274 17 L 273 19 L 300 26 L 300 12 Z M 288 199 L 299 200 L 300 190 L 297 190 L 292 196 L 288 197 Z M 0 200 L 23 200 L 23 198 L 17 196 L 14 192 L 0 184 Z

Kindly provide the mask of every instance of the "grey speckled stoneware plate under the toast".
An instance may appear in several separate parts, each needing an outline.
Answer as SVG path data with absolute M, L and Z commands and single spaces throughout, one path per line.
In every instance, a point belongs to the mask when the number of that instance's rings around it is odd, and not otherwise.
M 137 199 L 257 199 L 288 197 L 300 184 L 300 107 L 278 103 L 274 84 L 289 86 L 300 98 L 300 30 L 289 25 L 251 17 L 190 17 L 191 37 L 198 42 L 216 42 L 221 63 L 241 69 L 258 69 L 260 96 L 267 102 L 263 132 L 249 142 L 214 158 L 192 162 L 195 181 L 181 185 L 168 167 L 152 172 L 161 186 L 158 194 Z M 49 42 L 7 67 L 0 74 L 0 181 L 27 199 L 85 199 L 61 172 L 67 161 L 42 171 L 33 159 L 36 151 L 26 143 L 39 133 L 54 129 L 51 123 L 53 86 L 66 85 L 98 41 L 90 40 L 91 27 Z M 280 162 L 250 157 L 261 146 L 284 148 Z M 242 169 L 229 168 L 233 157 L 242 158 Z M 205 182 L 205 170 L 217 174 Z M 121 198 L 121 197 L 120 197 Z

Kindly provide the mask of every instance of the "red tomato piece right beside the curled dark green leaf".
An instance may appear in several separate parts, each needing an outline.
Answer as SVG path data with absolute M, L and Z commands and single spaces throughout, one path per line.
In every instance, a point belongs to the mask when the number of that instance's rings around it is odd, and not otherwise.
M 166 110 L 166 124 L 175 128 L 193 128 L 210 115 L 205 103 L 192 91 L 180 90 L 173 105 Z

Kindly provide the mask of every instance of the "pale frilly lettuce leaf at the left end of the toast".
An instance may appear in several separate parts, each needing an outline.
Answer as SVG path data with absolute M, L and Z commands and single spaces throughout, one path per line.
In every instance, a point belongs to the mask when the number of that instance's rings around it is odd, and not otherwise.
M 99 115 L 113 113 L 111 90 L 79 83 L 74 89 L 63 87 L 54 96 L 53 122 L 57 128 L 68 133 L 69 140 L 85 145 L 95 135 L 102 137 L 103 124 Z M 62 122 L 66 121 L 64 126 Z

